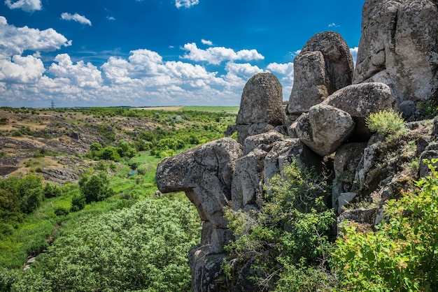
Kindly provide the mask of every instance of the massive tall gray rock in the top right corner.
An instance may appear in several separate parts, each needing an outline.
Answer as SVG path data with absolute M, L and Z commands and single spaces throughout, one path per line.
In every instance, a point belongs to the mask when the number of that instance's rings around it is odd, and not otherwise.
M 367 0 L 353 83 L 383 82 L 399 103 L 438 89 L 438 10 L 430 0 Z M 408 109 L 409 108 L 403 108 Z

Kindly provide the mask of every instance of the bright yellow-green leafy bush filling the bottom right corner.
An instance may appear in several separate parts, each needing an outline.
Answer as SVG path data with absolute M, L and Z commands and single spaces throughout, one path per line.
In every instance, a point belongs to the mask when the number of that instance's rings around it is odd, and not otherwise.
M 438 291 L 438 172 L 390 200 L 376 232 L 344 224 L 332 256 L 343 291 Z

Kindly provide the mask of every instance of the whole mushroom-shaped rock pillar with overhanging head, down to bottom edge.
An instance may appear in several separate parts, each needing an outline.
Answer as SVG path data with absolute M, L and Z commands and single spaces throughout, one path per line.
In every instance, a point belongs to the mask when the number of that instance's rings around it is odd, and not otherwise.
M 223 244 L 232 238 L 223 208 L 231 205 L 232 175 L 242 155 L 239 143 L 223 138 L 163 159 L 157 167 L 158 189 L 185 191 L 203 221 L 201 244 L 189 253 L 194 291 L 223 291 L 216 280 Z

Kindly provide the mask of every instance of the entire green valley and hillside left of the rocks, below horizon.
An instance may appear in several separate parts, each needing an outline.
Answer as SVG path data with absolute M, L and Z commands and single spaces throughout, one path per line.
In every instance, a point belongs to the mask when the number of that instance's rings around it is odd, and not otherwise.
M 52 287 L 53 291 L 59 291 L 70 285 L 69 291 L 90 291 L 87 285 L 80 289 L 78 283 L 90 281 L 92 285 L 99 281 L 101 284 L 95 289 L 106 291 L 108 271 L 92 267 L 94 261 L 106 261 L 106 255 L 97 255 L 92 250 L 106 249 L 111 254 L 120 247 L 117 252 L 123 253 L 122 247 L 127 242 L 130 242 L 131 251 L 142 250 L 137 254 L 138 258 L 129 261 L 143 261 L 143 264 L 137 263 L 138 269 L 129 270 L 130 263 L 120 263 L 118 268 L 128 269 L 123 273 L 132 279 L 112 283 L 113 289 L 188 289 L 187 254 L 188 249 L 199 242 L 200 221 L 195 207 L 184 194 L 155 198 L 155 169 L 165 156 L 223 137 L 227 125 L 233 124 L 235 117 L 234 110 L 226 112 L 222 108 L 209 110 L 204 107 L 177 111 L 0 108 L 0 184 L 9 186 L 0 191 L 0 267 L 3 268 L 0 269 L 0 290 L 49 291 L 47 287 Z M 99 179 L 99 174 L 105 179 Z M 87 184 L 91 180 L 97 183 Z M 87 187 L 96 186 L 102 186 L 108 192 L 99 198 L 87 198 Z M 50 191 L 52 187 L 55 191 Z M 92 192 L 99 191 L 92 189 Z M 163 213 L 158 214 L 154 208 L 149 209 L 142 203 L 146 201 L 148 206 L 164 204 L 169 210 L 160 207 Z M 169 214 L 181 216 L 170 220 Z M 119 216 L 138 218 L 138 225 L 152 233 L 155 225 L 148 218 L 169 221 L 167 229 L 160 231 L 165 238 L 176 235 L 174 228 L 183 233 L 181 239 L 172 237 L 160 241 L 161 235 L 153 235 L 132 242 L 130 237 L 143 233 L 134 232 L 134 226 L 131 231 L 135 234 L 124 228 L 127 221 Z M 94 227 L 108 221 L 113 222 L 109 229 Z M 186 230 L 187 226 L 192 227 Z M 125 229 L 127 233 L 123 231 Z M 72 242 L 71 236 L 78 240 L 81 240 L 80 236 L 92 236 L 100 241 L 90 243 L 83 238 L 79 246 Z M 108 237 L 113 237 L 114 249 L 105 243 Z M 128 241 L 122 243 L 125 240 Z M 148 260 L 157 250 L 165 249 L 163 244 L 172 241 L 176 248 L 174 256 L 165 263 Z M 145 250 L 144 244 L 152 249 Z M 76 260 L 62 254 L 64 250 L 69 250 L 70 255 L 76 251 L 82 255 L 81 266 L 90 269 L 89 274 L 83 275 L 85 278 L 72 279 L 69 284 L 58 279 L 57 275 L 64 272 L 75 272 L 74 267 L 78 265 Z M 29 258 L 34 261 L 34 257 L 35 263 L 28 263 Z M 52 266 L 58 272 L 49 275 L 48 266 L 55 262 L 64 265 Z M 151 277 L 148 275 L 136 280 L 138 274 L 150 272 L 156 279 L 146 279 Z M 164 281 L 161 277 L 173 280 Z

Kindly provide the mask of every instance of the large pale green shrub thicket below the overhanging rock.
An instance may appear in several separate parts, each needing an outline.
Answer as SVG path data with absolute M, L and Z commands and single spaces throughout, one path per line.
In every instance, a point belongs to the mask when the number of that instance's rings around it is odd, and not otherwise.
M 200 222 L 188 200 L 149 198 L 80 226 L 6 280 L 12 291 L 190 291 Z

